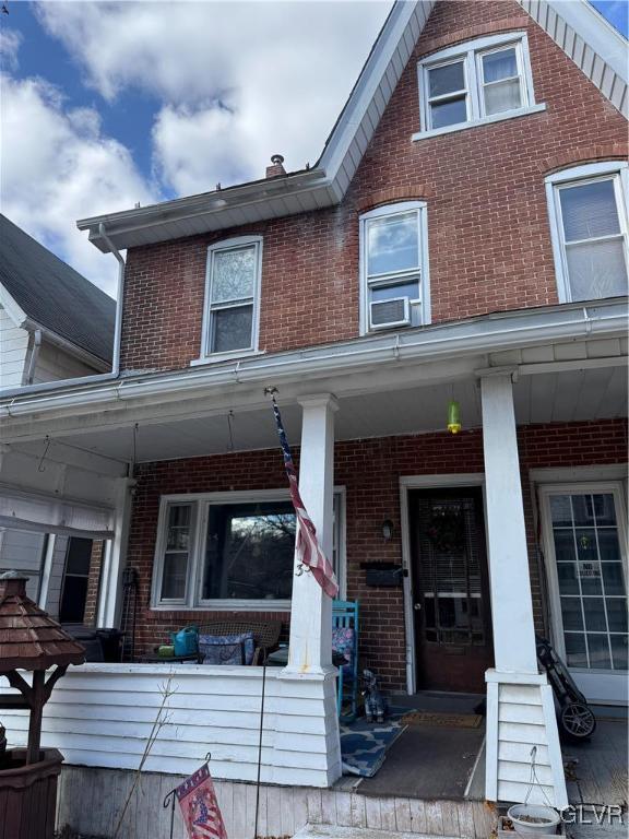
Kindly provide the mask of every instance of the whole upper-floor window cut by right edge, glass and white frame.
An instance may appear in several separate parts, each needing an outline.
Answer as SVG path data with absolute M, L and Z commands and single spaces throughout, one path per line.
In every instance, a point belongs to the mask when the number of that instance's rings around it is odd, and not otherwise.
M 629 166 L 593 163 L 546 178 L 561 303 L 626 295 Z

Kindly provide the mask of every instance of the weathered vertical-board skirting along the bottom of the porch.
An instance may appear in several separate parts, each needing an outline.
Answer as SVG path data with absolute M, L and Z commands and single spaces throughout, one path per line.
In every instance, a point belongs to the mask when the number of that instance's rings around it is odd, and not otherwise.
M 119 839 L 169 839 L 170 813 L 162 807 L 162 802 L 180 780 L 174 775 L 143 773 Z M 110 837 L 132 782 L 130 770 L 64 766 L 58 826 L 68 825 L 87 835 Z M 215 787 L 229 839 L 253 839 L 256 784 L 219 780 Z M 480 801 L 368 797 L 342 790 L 261 785 L 260 839 L 292 837 L 306 824 L 370 827 L 450 839 L 487 839 L 496 825 L 496 814 Z M 178 808 L 174 839 L 187 839 Z

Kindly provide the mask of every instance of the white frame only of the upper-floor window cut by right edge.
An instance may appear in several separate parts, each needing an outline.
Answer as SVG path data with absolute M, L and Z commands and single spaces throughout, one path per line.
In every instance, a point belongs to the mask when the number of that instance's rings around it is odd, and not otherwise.
M 616 209 L 620 224 L 620 235 L 625 241 L 625 263 L 629 268 L 629 222 L 627 217 L 627 201 L 629 200 L 629 164 L 625 161 L 605 161 L 589 163 L 581 166 L 572 166 L 561 169 L 545 178 L 546 202 L 548 204 L 548 220 L 550 224 L 550 239 L 553 241 L 553 257 L 555 260 L 555 275 L 557 277 L 557 294 L 559 303 L 571 303 L 572 291 L 568 274 L 568 261 L 563 240 L 563 222 L 561 218 L 561 202 L 559 190 L 561 187 L 577 186 L 594 182 L 596 180 L 613 180 L 616 196 Z M 592 298 L 597 299 L 597 298 Z

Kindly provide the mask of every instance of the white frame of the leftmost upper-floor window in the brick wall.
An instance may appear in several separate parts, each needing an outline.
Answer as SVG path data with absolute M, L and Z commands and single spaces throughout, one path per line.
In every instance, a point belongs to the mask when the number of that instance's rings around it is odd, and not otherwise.
M 212 311 L 217 308 L 228 308 L 225 302 L 219 306 L 211 306 L 212 303 L 212 268 L 214 264 L 214 255 L 224 250 L 235 250 L 237 248 L 254 246 L 256 248 L 256 273 L 253 276 L 253 312 L 251 318 L 251 342 L 248 347 L 240 350 L 228 350 L 221 353 L 210 351 L 210 341 L 212 339 Z M 251 355 L 258 352 L 258 340 L 260 329 L 260 286 L 262 280 L 262 236 L 235 236 L 229 239 L 215 241 L 207 248 L 207 261 L 205 264 L 205 298 L 203 302 L 203 327 L 201 330 L 201 354 L 192 364 L 200 364 L 206 361 L 224 361 L 226 358 L 237 358 L 242 355 Z M 245 299 L 245 298 L 242 298 Z M 249 298 L 247 298 L 249 299 Z M 228 303 L 228 302 L 227 302 Z

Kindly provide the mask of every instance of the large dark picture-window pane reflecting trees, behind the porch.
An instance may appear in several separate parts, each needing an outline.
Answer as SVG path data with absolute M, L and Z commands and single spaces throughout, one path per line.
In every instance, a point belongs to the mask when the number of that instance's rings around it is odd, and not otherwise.
M 204 600 L 289 600 L 295 510 L 290 501 L 210 506 Z

